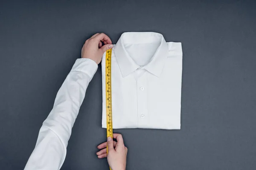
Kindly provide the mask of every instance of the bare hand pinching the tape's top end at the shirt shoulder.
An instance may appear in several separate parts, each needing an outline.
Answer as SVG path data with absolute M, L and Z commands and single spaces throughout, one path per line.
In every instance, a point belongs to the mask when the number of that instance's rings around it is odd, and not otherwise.
M 102 46 L 102 42 L 105 45 Z M 102 60 L 102 55 L 111 48 L 113 48 L 113 44 L 110 38 L 104 33 L 97 33 L 85 41 L 81 57 L 92 59 L 99 64 Z

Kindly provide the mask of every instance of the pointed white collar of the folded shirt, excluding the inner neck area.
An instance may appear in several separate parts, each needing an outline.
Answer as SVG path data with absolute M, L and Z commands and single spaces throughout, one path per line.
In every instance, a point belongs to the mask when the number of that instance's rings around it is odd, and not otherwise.
M 127 53 L 125 43 L 160 42 L 157 51 L 147 65 L 140 67 Z M 121 35 L 114 47 L 116 60 L 122 73 L 126 77 L 138 68 L 144 68 L 151 74 L 160 77 L 168 54 L 168 44 L 162 34 L 155 32 L 125 32 Z

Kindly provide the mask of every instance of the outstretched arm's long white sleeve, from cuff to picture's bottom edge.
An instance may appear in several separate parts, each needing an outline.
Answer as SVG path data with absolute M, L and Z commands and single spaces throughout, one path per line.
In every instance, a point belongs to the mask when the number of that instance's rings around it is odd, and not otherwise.
M 85 91 L 98 65 L 77 59 L 59 89 L 52 111 L 44 121 L 25 170 L 59 170 L 67 152 L 71 130 L 84 100 Z

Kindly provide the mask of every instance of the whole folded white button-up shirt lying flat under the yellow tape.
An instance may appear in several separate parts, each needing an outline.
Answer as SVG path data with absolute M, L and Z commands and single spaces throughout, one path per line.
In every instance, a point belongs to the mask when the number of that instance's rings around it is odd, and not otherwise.
M 113 128 L 180 129 L 181 43 L 154 32 L 126 32 L 111 59 Z M 105 54 L 102 99 L 106 128 Z

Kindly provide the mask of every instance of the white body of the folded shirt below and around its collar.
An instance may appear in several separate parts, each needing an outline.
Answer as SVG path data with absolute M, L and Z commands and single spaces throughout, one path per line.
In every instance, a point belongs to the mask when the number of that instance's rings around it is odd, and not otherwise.
M 180 129 L 182 49 L 167 42 L 168 56 L 159 77 L 138 68 L 123 77 L 112 49 L 113 128 Z M 102 127 L 106 128 L 105 54 L 102 58 Z

